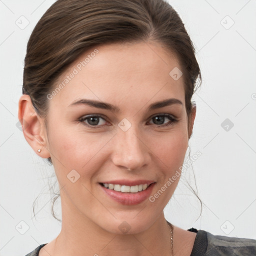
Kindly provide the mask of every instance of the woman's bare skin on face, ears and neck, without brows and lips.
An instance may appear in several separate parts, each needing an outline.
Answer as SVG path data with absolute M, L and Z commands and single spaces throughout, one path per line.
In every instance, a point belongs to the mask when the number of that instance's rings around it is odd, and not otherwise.
M 74 61 L 55 86 L 94 48 Z M 96 48 L 99 52 L 49 100 L 47 129 L 30 97 L 22 95 L 19 99 L 18 117 L 27 123 L 24 136 L 39 156 L 51 157 L 60 188 L 61 231 L 39 255 L 170 255 L 163 208 L 180 176 L 154 202 L 146 199 L 136 205 L 114 201 L 98 182 L 154 180 L 153 195 L 182 165 L 192 130 L 187 129 L 183 76 L 174 80 L 169 75 L 174 67 L 182 68 L 158 42 Z M 120 111 L 84 104 L 70 106 L 81 98 L 111 103 Z M 148 110 L 151 103 L 167 98 L 179 99 L 182 104 Z M 175 116 L 177 122 L 164 127 L 170 123 L 167 117 L 158 122 L 152 118 L 165 113 Z M 93 124 L 88 119 L 79 121 L 89 114 L 104 118 L 99 118 L 97 128 L 86 126 Z M 191 127 L 194 117 L 195 107 Z M 123 118 L 131 124 L 127 131 L 118 127 Z M 72 169 L 80 175 L 74 183 L 67 178 Z M 123 221 L 130 227 L 127 233 L 118 228 Z M 195 235 L 174 226 L 174 254 L 190 255 Z

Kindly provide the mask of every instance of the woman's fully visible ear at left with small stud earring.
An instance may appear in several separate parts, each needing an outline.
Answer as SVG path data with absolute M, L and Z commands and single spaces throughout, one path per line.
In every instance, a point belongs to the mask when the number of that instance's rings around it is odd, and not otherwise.
M 35 111 L 29 95 L 23 94 L 19 98 L 18 119 L 22 125 L 24 137 L 33 150 L 42 158 L 50 157 L 43 118 Z M 41 151 L 38 152 L 38 149 Z

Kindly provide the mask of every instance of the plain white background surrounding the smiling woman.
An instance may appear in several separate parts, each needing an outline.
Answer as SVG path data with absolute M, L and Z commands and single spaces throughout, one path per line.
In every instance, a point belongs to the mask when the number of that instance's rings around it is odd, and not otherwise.
M 0 0 L 0 256 L 24 256 L 55 238 L 61 228 L 50 213 L 47 176 L 53 168 L 16 127 L 26 43 L 53 2 Z M 197 150 L 202 153 L 193 170 L 204 206 L 199 217 L 196 197 L 186 187 L 185 178 L 194 187 L 188 168 L 165 208 L 166 219 L 183 229 L 256 239 L 256 1 L 170 4 L 195 44 L 202 72 L 202 86 L 194 96 L 197 114 L 190 147 L 191 156 Z M 21 15 L 29 21 L 24 29 L 15 24 Z M 234 124 L 228 131 L 221 126 L 226 118 Z M 35 219 L 32 203 L 38 194 Z M 60 217 L 58 207 L 56 211 Z M 24 234 L 15 229 L 21 220 L 29 226 Z

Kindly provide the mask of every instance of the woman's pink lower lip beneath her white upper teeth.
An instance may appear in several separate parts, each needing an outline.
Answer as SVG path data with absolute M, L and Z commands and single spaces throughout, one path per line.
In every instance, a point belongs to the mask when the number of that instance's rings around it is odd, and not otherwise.
M 119 192 L 115 191 L 113 189 L 108 189 L 102 185 L 99 184 L 99 186 L 104 190 L 104 192 L 110 196 L 115 201 L 124 204 L 124 205 L 135 205 L 139 204 L 142 201 L 144 201 L 146 198 L 149 197 L 150 193 L 152 192 L 152 188 L 155 183 L 150 184 L 145 190 L 138 191 L 136 193 L 125 193 L 125 192 Z

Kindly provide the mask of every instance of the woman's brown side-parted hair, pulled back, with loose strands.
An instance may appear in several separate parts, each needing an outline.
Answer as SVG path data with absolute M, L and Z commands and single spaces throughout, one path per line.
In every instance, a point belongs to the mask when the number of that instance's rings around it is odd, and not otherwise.
M 39 19 L 28 40 L 22 93 L 30 96 L 47 127 L 46 95 L 74 60 L 100 44 L 141 41 L 160 42 L 177 56 L 190 129 L 191 97 L 201 81 L 200 69 L 182 20 L 164 0 L 57 0 Z M 50 158 L 48 161 L 52 163 Z M 52 214 L 55 217 L 53 204 Z

